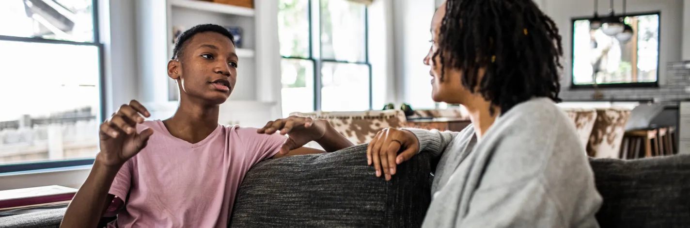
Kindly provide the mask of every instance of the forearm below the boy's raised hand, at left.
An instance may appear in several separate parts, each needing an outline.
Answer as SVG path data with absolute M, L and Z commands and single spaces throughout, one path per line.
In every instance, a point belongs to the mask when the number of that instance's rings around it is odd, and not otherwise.
M 115 197 L 108 190 L 119 168 L 95 160 L 91 173 L 67 207 L 60 227 L 96 227 Z

